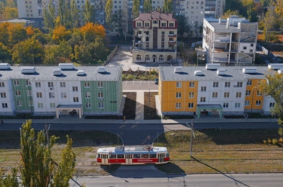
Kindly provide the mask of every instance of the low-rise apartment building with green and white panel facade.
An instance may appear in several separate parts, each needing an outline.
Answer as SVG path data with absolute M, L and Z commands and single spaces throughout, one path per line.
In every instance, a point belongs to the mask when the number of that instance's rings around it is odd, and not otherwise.
M 0 64 L 0 115 L 117 115 L 121 67 L 20 67 Z

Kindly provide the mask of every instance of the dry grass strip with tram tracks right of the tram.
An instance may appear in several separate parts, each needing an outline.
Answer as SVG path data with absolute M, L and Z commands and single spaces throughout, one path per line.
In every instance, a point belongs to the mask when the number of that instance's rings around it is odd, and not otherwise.
M 277 129 L 205 129 L 195 136 L 190 158 L 190 131 L 160 135 L 154 146 L 166 146 L 171 161 L 156 167 L 166 173 L 283 171 L 282 144 L 263 144 L 279 138 Z

